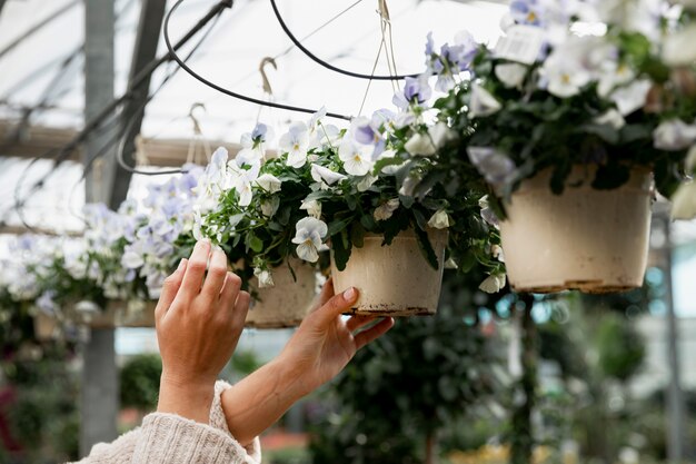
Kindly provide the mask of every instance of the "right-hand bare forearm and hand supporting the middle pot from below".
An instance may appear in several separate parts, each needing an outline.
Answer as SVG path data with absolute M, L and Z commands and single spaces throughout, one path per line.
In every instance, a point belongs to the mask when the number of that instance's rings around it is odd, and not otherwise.
M 324 286 L 319 303 L 305 317 L 282 353 L 274 361 L 222 393 L 222 411 L 230 433 L 248 445 L 270 427 L 295 402 L 334 378 L 356 352 L 394 325 L 388 317 L 358 332 L 374 317 L 350 317 L 357 290 L 334 295 L 334 284 Z

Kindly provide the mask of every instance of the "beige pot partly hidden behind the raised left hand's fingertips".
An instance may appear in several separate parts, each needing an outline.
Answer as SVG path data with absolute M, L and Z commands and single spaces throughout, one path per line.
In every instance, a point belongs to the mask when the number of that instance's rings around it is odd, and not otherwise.
M 285 328 L 300 325 L 317 295 L 317 273 L 315 267 L 294 259 L 292 273 L 287 265 L 272 269 L 274 286 L 259 288 L 256 277 L 251 287 L 258 292 L 258 300 L 252 302 L 245 325 L 251 328 Z

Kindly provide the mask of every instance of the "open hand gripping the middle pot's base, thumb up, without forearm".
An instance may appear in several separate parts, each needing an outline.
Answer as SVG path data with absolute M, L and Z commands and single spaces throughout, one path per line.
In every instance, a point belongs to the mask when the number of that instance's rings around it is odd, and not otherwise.
M 341 314 L 350 310 L 358 299 L 358 290 L 350 287 L 340 295 L 334 294 L 329 279 L 319 295 L 319 303 L 305 317 L 288 342 L 279 362 L 290 366 L 308 394 L 334 378 L 362 346 L 380 337 L 394 326 L 391 317 L 374 326 L 374 316 L 351 316 L 344 320 Z

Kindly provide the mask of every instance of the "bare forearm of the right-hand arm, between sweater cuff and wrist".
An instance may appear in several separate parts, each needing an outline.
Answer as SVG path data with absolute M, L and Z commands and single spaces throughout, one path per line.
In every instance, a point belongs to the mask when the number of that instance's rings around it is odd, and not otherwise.
M 222 393 L 227 426 L 247 445 L 307 393 L 290 363 L 276 358 Z

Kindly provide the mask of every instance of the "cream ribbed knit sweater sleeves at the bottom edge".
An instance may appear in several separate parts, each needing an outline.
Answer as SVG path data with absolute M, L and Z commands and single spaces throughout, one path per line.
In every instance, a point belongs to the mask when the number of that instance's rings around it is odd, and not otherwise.
M 79 464 L 260 464 L 259 440 L 242 447 L 227 428 L 220 395 L 229 387 L 226 382 L 216 383 L 210 425 L 152 413 L 141 427 L 116 442 L 95 445 Z

